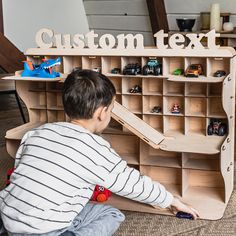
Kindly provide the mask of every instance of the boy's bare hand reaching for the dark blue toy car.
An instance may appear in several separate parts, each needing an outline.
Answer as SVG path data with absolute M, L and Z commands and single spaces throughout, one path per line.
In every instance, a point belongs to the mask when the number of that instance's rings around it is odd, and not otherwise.
M 199 213 L 197 210 L 192 208 L 191 206 L 186 205 L 185 203 L 181 202 L 177 197 L 174 197 L 171 205 L 171 211 L 176 215 L 178 211 L 189 213 L 193 216 L 193 219 L 196 220 L 199 218 Z

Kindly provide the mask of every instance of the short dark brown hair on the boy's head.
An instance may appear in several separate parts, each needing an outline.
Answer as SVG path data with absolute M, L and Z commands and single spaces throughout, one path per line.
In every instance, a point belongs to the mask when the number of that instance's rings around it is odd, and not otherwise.
M 116 90 L 103 74 L 92 70 L 75 70 L 63 86 L 64 110 L 70 118 L 90 119 L 100 106 L 109 106 Z

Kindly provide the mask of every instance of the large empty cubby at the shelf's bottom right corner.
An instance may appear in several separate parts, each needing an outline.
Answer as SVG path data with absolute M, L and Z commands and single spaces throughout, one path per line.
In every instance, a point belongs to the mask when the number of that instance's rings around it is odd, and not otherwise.
M 224 180 L 219 171 L 183 169 L 183 197 L 224 201 Z

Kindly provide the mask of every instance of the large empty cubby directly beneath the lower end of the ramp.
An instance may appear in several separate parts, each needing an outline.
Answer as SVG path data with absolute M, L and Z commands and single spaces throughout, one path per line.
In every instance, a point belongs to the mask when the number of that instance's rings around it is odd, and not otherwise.
M 154 149 L 150 145 L 141 141 L 140 164 L 181 168 L 181 153 L 166 152 L 160 149 Z

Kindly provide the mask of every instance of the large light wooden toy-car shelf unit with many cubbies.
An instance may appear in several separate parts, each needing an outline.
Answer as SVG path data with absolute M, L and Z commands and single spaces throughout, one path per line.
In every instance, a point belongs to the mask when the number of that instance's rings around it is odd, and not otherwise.
M 61 99 L 68 73 L 74 67 L 99 67 L 117 91 L 113 119 L 102 137 L 130 166 L 195 207 L 202 219 L 222 217 L 233 190 L 233 171 L 227 168 L 233 162 L 234 129 L 228 128 L 224 136 L 208 136 L 207 127 L 213 118 L 234 127 L 234 50 L 30 49 L 27 53 L 32 60 L 38 60 L 34 55 L 61 56 L 63 65 L 57 69 L 61 78 L 21 77 L 20 71 L 5 78 L 16 81 L 30 117 L 30 123 L 6 134 L 12 157 L 28 130 L 46 122 L 69 121 Z M 122 74 L 127 64 L 139 63 L 143 68 L 150 57 L 162 63 L 162 75 Z M 176 68 L 186 70 L 195 63 L 202 64 L 204 75 L 172 75 Z M 121 73 L 112 74 L 113 68 L 120 68 Z M 213 77 L 217 70 L 225 70 L 226 76 Z M 142 88 L 141 93 L 129 92 L 135 85 Z M 171 113 L 174 104 L 180 106 L 180 113 Z M 161 107 L 160 113 L 151 112 L 154 106 Z M 115 194 L 105 203 L 123 210 L 172 214 Z

